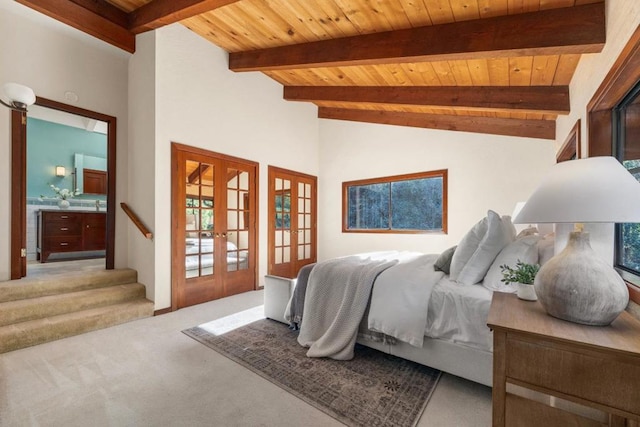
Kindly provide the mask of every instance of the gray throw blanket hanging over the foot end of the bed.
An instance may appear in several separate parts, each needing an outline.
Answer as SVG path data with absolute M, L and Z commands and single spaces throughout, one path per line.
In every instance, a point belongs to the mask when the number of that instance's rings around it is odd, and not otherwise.
M 397 260 L 345 257 L 317 264 L 309 276 L 298 343 L 308 357 L 350 360 L 375 278 Z

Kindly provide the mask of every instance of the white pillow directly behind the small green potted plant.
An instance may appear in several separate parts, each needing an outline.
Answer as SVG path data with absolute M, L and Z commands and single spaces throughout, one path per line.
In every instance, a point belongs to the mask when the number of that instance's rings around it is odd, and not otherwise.
M 507 285 L 502 281 L 504 277 L 502 275 L 501 265 L 508 265 L 515 267 L 518 260 L 526 264 L 538 263 L 538 245 L 540 236 L 525 236 L 517 239 L 515 242 L 511 242 L 507 245 L 496 257 L 489 268 L 482 285 L 492 291 L 499 292 L 515 292 L 516 287 L 513 285 Z

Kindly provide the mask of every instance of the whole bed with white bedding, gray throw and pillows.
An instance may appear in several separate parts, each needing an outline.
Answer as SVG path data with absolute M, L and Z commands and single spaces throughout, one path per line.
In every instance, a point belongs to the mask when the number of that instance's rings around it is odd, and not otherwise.
M 299 325 L 298 342 L 309 347 L 310 357 L 348 359 L 352 340 L 491 386 L 493 340 L 486 326 L 491 298 L 493 292 L 514 292 L 500 281 L 500 265 L 544 261 L 552 242 L 553 236 L 545 239 L 533 229 L 516 236 L 509 217 L 489 211 L 442 254 L 390 251 L 317 264 L 300 316 L 295 311 L 301 305 L 300 283 L 267 276 L 265 314 Z M 349 284 L 354 277 L 358 283 Z M 370 287 L 362 284 L 367 280 Z M 323 299 L 323 293 L 338 297 Z M 353 318 L 358 319 L 355 336 Z

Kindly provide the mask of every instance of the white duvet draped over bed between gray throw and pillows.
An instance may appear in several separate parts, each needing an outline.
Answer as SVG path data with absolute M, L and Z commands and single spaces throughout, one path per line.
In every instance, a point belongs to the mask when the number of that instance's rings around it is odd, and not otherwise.
M 487 316 L 493 292 L 435 271 L 437 255 L 408 253 L 382 272 L 371 294 L 368 327 L 422 347 L 424 337 L 491 351 Z

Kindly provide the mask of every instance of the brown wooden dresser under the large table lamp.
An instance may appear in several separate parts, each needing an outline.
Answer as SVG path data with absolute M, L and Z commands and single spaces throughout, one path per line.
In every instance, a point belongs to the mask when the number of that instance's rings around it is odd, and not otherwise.
M 494 426 L 640 426 L 640 321 L 629 313 L 584 326 L 495 292 L 487 323 Z

